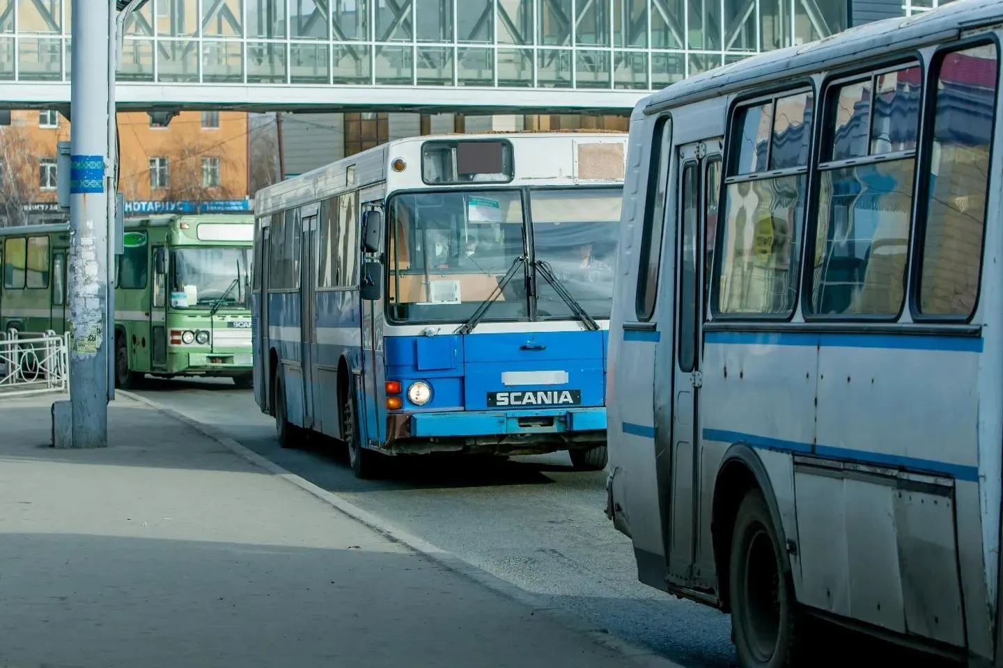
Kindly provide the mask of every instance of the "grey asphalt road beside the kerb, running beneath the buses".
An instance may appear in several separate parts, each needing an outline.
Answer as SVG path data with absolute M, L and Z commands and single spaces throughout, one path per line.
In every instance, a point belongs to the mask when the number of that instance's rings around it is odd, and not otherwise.
M 630 540 L 603 514 L 605 474 L 573 472 L 565 453 L 409 461 L 360 481 L 336 451 L 280 449 L 272 419 L 230 381 L 147 379 L 138 394 L 624 640 L 691 668 L 735 665 L 728 617 L 637 582 Z

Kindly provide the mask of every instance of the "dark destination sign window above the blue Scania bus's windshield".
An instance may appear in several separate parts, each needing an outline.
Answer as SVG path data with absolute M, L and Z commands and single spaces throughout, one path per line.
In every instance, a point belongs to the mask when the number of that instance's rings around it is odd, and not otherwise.
M 421 178 L 428 184 L 508 183 L 514 173 L 508 141 L 428 141 L 421 147 Z

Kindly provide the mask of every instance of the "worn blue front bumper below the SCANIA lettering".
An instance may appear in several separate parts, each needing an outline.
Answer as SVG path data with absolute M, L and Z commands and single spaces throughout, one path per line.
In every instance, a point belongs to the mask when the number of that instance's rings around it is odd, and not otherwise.
M 538 454 L 605 445 L 606 409 L 391 414 L 387 428 L 398 453 Z

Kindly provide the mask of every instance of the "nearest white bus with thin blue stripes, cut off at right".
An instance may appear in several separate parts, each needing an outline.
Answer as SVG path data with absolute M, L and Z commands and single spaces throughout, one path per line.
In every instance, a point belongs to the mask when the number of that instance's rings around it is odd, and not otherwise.
M 961 0 L 635 109 L 607 513 L 745 668 L 817 620 L 1003 665 L 1001 39 Z

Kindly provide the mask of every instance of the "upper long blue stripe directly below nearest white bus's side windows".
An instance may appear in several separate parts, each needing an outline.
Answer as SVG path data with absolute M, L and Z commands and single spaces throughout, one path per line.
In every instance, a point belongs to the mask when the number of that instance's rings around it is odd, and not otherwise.
M 706 343 L 733 346 L 820 346 L 822 348 L 871 348 L 957 353 L 982 353 L 984 345 L 981 337 L 820 333 L 817 331 L 708 331 Z

